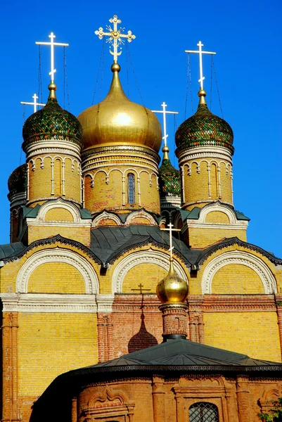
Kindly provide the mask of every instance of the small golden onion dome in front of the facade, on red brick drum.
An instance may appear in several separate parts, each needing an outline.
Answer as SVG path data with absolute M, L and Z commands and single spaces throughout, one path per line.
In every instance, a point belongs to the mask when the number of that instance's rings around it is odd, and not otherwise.
M 173 258 L 167 276 L 157 286 L 157 296 L 162 303 L 184 302 L 188 295 L 188 284 L 174 270 Z

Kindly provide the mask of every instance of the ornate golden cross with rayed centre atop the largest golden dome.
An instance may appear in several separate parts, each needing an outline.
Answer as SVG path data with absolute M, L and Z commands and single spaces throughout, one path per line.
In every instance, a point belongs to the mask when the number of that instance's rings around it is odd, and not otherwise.
M 117 28 L 117 24 L 122 23 L 120 19 L 117 19 L 117 15 L 110 18 L 109 22 L 113 23 L 113 29 L 110 25 L 107 25 L 106 29 L 108 32 L 103 32 L 103 28 L 99 27 L 98 31 L 95 31 L 95 34 L 98 35 L 99 39 L 103 39 L 103 36 L 109 37 L 106 42 L 109 42 L 113 46 L 114 51 L 110 49 L 110 53 L 114 56 L 114 63 L 117 63 L 117 56 L 120 56 L 122 53 L 122 47 L 120 47 L 120 45 L 124 44 L 122 38 L 127 38 L 128 42 L 132 42 L 132 39 L 135 39 L 136 36 L 132 34 L 132 31 L 128 31 L 127 34 L 122 34 L 124 28 Z M 119 47 L 120 51 L 117 51 Z

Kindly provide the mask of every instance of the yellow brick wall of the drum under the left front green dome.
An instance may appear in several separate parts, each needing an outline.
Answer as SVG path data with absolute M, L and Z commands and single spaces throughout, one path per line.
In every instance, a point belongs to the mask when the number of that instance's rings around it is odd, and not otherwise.
M 56 157 L 55 154 L 49 154 L 44 158 L 44 168 L 41 168 L 41 160 L 39 157 L 34 158 L 35 170 L 32 170 L 32 164 L 29 164 L 29 200 L 34 201 L 38 198 L 58 198 L 62 197 L 69 200 L 74 200 L 76 203 L 81 202 L 81 176 L 77 170 L 77 162 L 72 167 L 70 158 L 65 158 L 65 195 L 63 195 L 63 169 L 62 160 L 56 158 L 54 160 L 54 194 L 52 192 L 52 172 L 51 172 L 51 157 Z M 34 204 L 35 205 L 35 204 Z

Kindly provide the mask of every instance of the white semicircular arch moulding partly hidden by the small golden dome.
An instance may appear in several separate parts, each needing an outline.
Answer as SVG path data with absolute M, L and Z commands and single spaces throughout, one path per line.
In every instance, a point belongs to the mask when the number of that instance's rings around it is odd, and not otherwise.
M 122 293 L 122 283 L 124 277 L 127 275 L 128 271 L 137 265 L 141 264 L 155 264 L 165 269 L 169 270 L 169 256 L 165 252 L 160 252 L 159 250 L 141 250 L 140 252 L 134 252 L 130 255 L 127 255 L 123 260 L 117 264 L 113 272 L 112 279 L 112 293 Z M 174 269 L 177 272 L 177 275 L 184 279 L 188 283 L 188 277 L 184 271 L 181 264 L 174 260 Z

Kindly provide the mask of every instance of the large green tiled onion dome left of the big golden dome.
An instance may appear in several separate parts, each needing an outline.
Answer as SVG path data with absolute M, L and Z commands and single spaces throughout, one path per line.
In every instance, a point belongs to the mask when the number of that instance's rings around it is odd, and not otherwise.
M 82 126 L 77 117 L 58 105 L 56 85 L 49 85 L 46 106 L 31 115 L 23 125 L 23 150 L 34 141 L 62 139 L 77 143 L 82 148 Z

